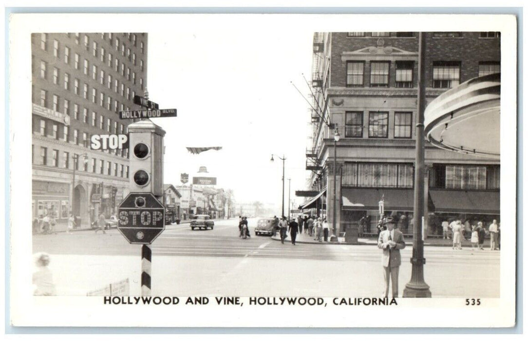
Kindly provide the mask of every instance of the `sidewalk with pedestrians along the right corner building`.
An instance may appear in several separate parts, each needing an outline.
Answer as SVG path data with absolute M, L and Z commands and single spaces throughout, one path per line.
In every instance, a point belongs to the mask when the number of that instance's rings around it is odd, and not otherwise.
M 318 242 L 314 240 L 315 236 L 309 236 L 308 233 L 298 233 L 297 238 L 295 240 L 296 243 L 299 244 L 334 244 L 334 245 L 376 245 L 378 244 L 378 238 L 376 236 L 365 236 L 360 237 L 357 239 L 357 243 L 347 243 L 345 242 L 344 237 L 338 237 L 337 241 L 331 242 L 330 236 L 328 236 L 328 241 L 322 241 Z M 271 239 L 280 241 L 279 234 L 276 233 L 271 236 Z M 323 240 L 323 237 L 321 236 L 321 240 Z M 405 238 L 406 245 L 412 246 L 412 238 Z M 284 240 L 285 243 L 291 243 L 290 235 L 289 233 L 286 236 L 286 239 Z M 442 238 L 426 238 L 426 240 L 423 242 L 423 245 L 425 246 L 435 246 L 435 247 L 452 247 L 453 241 L 451 239 L 442 239 Z M 462 240 L 462 247 L 463 248 L 471 248 L 471 242 L 469 240 Z M 485 240 L 484 242 L 484 249 L 489 249 L 489 239 Z

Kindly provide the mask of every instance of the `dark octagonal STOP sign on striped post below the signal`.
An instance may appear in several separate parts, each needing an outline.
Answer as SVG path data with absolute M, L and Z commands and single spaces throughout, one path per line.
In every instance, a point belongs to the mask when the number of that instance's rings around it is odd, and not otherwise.
M 150 244 L 165 230 L 165 208 L 152 193 L 128 194 L 117 212 L 117 229 L 130 244 Z

